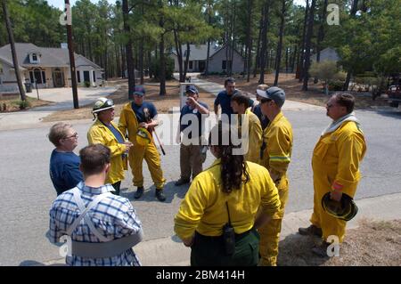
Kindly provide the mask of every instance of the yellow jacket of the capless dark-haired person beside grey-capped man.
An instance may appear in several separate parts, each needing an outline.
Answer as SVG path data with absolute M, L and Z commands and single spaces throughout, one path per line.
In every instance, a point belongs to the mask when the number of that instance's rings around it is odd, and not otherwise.
M 259 118 L 250 111 L 250 108 L 245 111 L 245 117 L 248 119 L 249 127 L 249 146 L 248 152 L 245 155 L 245 160 L 258 163 L 260 147 L 262 146 L 262 126 L 260 125 Z

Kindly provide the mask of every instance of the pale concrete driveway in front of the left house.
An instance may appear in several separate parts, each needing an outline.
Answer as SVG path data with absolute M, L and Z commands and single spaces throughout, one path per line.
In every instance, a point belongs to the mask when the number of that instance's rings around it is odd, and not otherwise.
M 96 87 L 96 88 L 78 88 L 78 104 L 80 107 L 93 103 L 99 97 L 108 96 L 119 89 L 119 85 Z M 8 112 L 0 114 L 0 130 L 29 128 L 36 126 L 54 111 L 72 110 L 74 104 L 72 101 L 71 88 L 49 88 L 39 89 L 39 99 L 52 101 L 53 103 L 30 109 L 27 111 Z M 37 90 L 27 93 L 29 97 L 37 98 Z

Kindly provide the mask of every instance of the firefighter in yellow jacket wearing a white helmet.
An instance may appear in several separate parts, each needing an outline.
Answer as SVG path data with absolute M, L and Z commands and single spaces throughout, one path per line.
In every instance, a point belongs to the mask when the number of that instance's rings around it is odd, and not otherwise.
M 89 144 L 100 143 L 110 148 L 110 171 L 106 178 L 106 183 L 116 190 L 114 193 L 119 195 L 119 187 L 124 179 L 124 171 L 127 170 L 127 153 L 132 146 L 131 142 L 126 142 L 124 135 L 119 131 L 112 120 L 114 118 L 114 103 L 107 98 L 99 98 L 94 102 L 92 113 L 97 115 L 94 125 L 89 128 L 87 141 Z

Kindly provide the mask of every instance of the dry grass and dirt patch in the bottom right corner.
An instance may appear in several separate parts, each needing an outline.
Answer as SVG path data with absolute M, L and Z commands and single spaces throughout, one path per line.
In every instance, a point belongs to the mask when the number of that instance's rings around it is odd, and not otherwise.
M 278 265 L 297 266 L 399 266 L 401 265 L 401 220 L 362 220 L 347 231 L 340 256 L 317 257 L 311 248 L 319 239 L 293 234 L 280 242 Z

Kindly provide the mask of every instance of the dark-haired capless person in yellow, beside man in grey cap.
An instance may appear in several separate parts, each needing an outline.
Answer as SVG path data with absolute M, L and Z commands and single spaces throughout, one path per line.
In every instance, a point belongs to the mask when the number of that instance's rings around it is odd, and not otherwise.
M 262 126 L 260 125 L 259 118 L 250 110 L 248 105 L 250 99 L 237 92 L 231 98 L 231 108 L 233 112 L 238 114 L 239 131 L 241 126 L 244 126 L 242 119 L 246 119 L 246 127 L 248 129 L 248 152 L 244 155 L 246 161 L 258 163 L 260 155 L 260 147 L 262 145 Z M 242 116 L 243 115 L 243 116 Z M 241 135 L 242 137 L 242 135 Z

